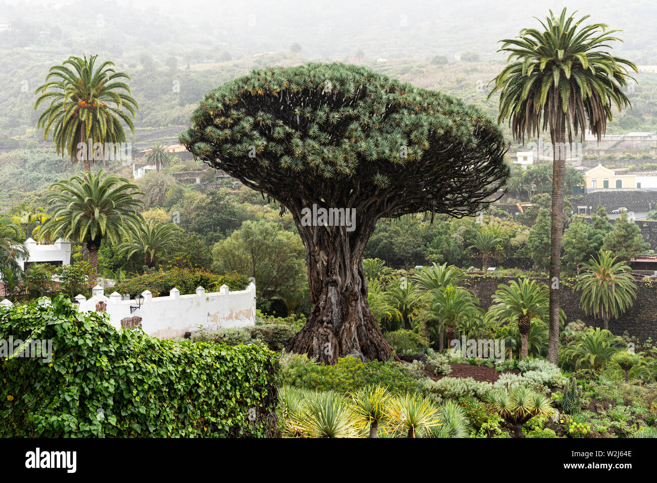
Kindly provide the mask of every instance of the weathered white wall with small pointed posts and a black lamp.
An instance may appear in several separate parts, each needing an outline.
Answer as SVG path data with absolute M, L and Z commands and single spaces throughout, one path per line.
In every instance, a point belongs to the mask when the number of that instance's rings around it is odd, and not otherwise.
M 230 292 L 226 285 L 219 292 L 208 292 L 198 287 L 196 294 L 181 295 L 173 288 L 166 297 L 153 298 L 150 291 L 143 292 L 145 297 L 141 308 L 130 313 L 130 306 L 137 306 L 135 300 L 121 300 L 121 295 L 114 292 L 109 297 L 102 294 L 102 288 L 96 286 L 93 296 L 87 300 L 78 295 L 80 311 L 95 311 L 101 300 L 107 304 L 110 323 L 120 329 L 121 319 L 141 317 L 141 327 L 145 333 L 158 338 L 183 337 L 186 332 L 195 332 L 202 325 L 204 329 L 214 331 L 222 327 L 246 327 L 256 325 L 256 285 L 250 283 L 245 290 Z

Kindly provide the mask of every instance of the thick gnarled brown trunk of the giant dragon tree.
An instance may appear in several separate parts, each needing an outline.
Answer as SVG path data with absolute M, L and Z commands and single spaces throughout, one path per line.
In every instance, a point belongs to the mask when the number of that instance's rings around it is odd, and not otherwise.
M 297 223 L 308 252 L 308 285 L 313 310 L 286 350 L 334 364 L 339 357 L 387 361 L 393 349 L 367 304 L 362 256 L 373 229 L 350 233 L 345 227 L 304 227 Z

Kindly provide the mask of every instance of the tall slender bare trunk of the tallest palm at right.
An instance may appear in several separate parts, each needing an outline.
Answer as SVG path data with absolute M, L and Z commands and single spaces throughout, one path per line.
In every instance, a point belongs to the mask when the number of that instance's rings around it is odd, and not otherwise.
M 558 120 L 551 130 L 553 143 L 552 167 L 552 227 L 550 232 L 550 318 L 547 344 L 547 359 L 559 361 L 559 303 L 561 277 L 561 237 L 563 235 L 564 179 L 566 173 L 566 131 L 561 101 L 555 96 Z

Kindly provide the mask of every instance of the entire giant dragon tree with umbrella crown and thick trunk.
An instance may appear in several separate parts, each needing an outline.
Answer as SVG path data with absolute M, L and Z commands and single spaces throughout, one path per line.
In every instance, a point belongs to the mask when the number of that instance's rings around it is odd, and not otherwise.
M 392 356 L 363 273 L 376 221 L 472 216 L 509 177 L 503 134 L 478 108 L 340 63 L 264 68 L 225 83 L 204 95 L 180 141 L 294 217 L 313 310 L 286 349 L 325 363 Z

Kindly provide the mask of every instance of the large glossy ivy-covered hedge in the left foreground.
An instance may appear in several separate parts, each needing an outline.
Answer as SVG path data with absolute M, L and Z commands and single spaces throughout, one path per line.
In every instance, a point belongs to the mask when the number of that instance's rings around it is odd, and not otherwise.
M 116 331 L 68 298 L 0 307 L 0 339 L 51 339 L 0 359 L 0 437 L 272 436 L 277 357 L 261 344 L 175 342 Z

